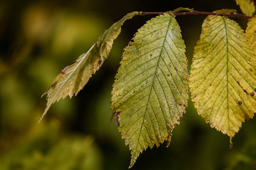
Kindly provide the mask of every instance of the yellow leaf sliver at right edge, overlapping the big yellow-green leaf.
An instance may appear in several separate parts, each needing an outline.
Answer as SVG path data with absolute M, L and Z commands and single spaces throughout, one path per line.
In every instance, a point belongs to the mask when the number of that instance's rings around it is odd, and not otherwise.
M 249 41 L 250 45 L 252 46 L 252 50 L 254 55 L 256 55 L 256 18 L 253 17 L 247 24 L 246 28 L 246 39 Z

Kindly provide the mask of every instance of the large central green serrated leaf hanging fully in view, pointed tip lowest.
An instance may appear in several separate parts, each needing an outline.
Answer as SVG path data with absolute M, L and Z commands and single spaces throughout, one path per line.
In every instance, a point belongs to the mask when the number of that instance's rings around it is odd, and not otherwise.
M 188 63 L 172 15 L 152 18 L 125 48 L 111 108 L 131 150 L 132 167 L 143 150 L 170 142 L 188 103 Z

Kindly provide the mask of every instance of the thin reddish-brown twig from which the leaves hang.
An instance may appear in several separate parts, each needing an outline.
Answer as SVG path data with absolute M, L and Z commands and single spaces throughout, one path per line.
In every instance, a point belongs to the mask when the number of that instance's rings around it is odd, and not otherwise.
M 142 12 L 141 15 L 160 15 L 164 13 L 169 13 L 167 12 Z M 227 13 L 215 13 L 215 12 L 205 12 L 205 11 L 188 11 L 188 12 L 176 12 L 173 13 L 175 16 L 179 15 L 220 15 L 220 16 L 225 16 L 225 17 L 233 17 L 233 18 L 252 18 L 248 15 L 242 15 L 239 13 L 232 13 L 232 14 L 227 14 Z

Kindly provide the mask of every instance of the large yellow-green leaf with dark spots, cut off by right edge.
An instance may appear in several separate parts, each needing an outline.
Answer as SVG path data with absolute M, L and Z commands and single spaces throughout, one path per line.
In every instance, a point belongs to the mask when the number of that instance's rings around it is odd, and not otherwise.
M 256 59 L 237 22 L 204 20 L 191 65 L 191 98 L 211 127 L 230 136 L 256 112 Z

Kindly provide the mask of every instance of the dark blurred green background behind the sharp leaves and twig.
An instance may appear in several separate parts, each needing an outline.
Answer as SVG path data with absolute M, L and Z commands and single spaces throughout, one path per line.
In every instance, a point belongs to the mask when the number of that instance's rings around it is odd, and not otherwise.
M 239 7 L 221 1 L 0 1 L 0 169 L 127 169 L 128 146 L 110 121 L 111 87 L 122 49 L 150 17 L 125 22 L 108 60 L 76 97 L 53 104 L 37 124 L 41 98 L 63 67 L 86 52 L 105 29 L 131 11 L 200 11 Z M 177 20 L 191 63 L 205 16 Z M 237 19 L 236 19 L 237 20 Z M 246 20 L 237 20 L 246 27 Z M 171 145 L 143 152 L 132 169 L 256 169 L 256 119 L 233 139 L 205 124 L 189 100 Z

